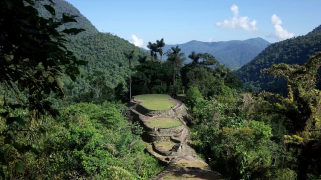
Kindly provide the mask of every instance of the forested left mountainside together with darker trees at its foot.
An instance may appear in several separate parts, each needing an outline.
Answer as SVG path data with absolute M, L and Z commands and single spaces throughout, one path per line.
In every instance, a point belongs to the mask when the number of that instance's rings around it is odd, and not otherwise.
M 91 102 L 99 99 L 114 100 L 114 88 L 127 90 L 126 80 L 129 77 L 129 63 L 124 53 L 135 50 L 136 54 L 147 55 L 143 50 L 135 47 L 128 41 L 119 38 L 111 33 L 101 33 L 84 17 L 72 4 L 63 0 L 54 0 L 52 7 L 55 9 L 55 18 L 61 18 L 63 13 L 68 13 L 77 20 L 77 23 L 69 22 L 61 25 L 58 30 L 63 28 L 82 28 L 86 31 L 80 32 L 75 36 L 67 36 L 68 43 L 65 44 L 74 53 L 77 59 L 88 62 L 84 66 L 85 78 L 78 78 L 72 81 L 70 78 L 63 77 L 65 84 L 64 91 L 68 95 L 68 103 Z M 46 1 L 36 1 L 35 7 L 42 17 L 50 17 L 50 12 L 44 8 L 43 4 L 50 4 Z M 137 65 L 138 58 L 132 59 L 133 66 Z M 119 93 L 118 93 L 119 94 Z M 124 96 L 122 96 L 124 97 Z M 59 101 L 59 100 L 58 100 Z M 59 102 L 62 103 L 62 102 Z M 57 102 L 55 100 L 55 105 Z

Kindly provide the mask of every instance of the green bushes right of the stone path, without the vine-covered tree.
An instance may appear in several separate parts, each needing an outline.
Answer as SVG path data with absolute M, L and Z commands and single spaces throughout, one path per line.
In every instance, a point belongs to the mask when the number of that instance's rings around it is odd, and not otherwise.
M 295 178 L 297 161 L 282 142 L 286 118 L 266 101 L 243 96 L 198 99 L 189 109 L 191 145 L 229 179 Z

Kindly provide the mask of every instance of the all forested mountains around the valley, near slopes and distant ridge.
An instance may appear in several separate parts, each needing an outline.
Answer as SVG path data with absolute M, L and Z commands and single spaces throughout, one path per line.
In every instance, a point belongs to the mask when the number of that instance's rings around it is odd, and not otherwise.
M 48 3 L 47 1 L 40 1 Z M 74 37 L 68 37 L 67 46 L 74 51 L 79 59 L 87 60 L 89 64 L 85 67 L 89 77 L 98 71 L 106 79 L 106 83 L 114 87 L 119 82 L 125 82 L 129 74 L 128 60 L 124 52 L 136 51 L 136 55 L 149 54 L 141 48 L 134 46 L 127 40 L 110 33 L 99 32 L 91 22 L 84 17 L 72 4 L 64 0 L 54 0 L 54 8 L 57 17 L 63 12 L 77 15 L 78 23 L 65 25 L 66 28 L 84 28 L 85 32 Z M 49 16 L 48 12 L 39 5 L 39 13 Z M 165 40 L 166 42 L 166 40 Z M 163 52 L 170 47 L 178 45 L 186 56 L 191 51 L 213 54 L 221 64 L 230 68 L 238 68 L 235 71 L 244 84 L 244 88 L 251 91 L 269 90 L 278 92 L 286 90 L 282 79 L 262 78 L 260 70 L 270 67 L 272 64 L 285 62 L 288 64 L 304 64 L 309 56 L 321 51 L 321 26 L 316 27 L 307 35 L 294 37 L 282 42 L 270 44 L 262 38 L 252 38 L 244 41 L 227 42 L 200 42 L 190 41 L 183 44 L 165 45 Z M 263 51 L 262 51 L 263 50 Z M 261 52 L 262 51 L 262 52 Z M 163 57 L 166 59 L 166 57 Z M 253 60 L 252 60 L 253 59 Z M 252 61 L 250 61 L 252 60 Z M 190 60 L 187 58 L 187 63 Z M 250 62 L 249 62 L 250 61 Z M 133 59 L 133 65 L 137 64 L 137 56 Z M 283 81 L 283 82 L 282 82 Z M 91 80 L 79 80 L 75 88 L 86 90 Z

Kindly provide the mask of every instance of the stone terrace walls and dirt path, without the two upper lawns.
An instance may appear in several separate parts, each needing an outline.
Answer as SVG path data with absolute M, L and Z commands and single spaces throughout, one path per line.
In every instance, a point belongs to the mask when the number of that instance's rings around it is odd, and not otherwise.
M 131 101 L 134 105 L 131 115 L 134 121 L 139 121 L 144 127 L 143 140 L 150 143 L 146 152 L 157 158 L 166 167 L 152 180 L 223 180 L 223 177 L 212 171 L 208 164 L 199 158 L 193 148 L 188 145 L 190 131 L 183 117 L 187 109 L 176 99 L 168 99 L 176 105 L 166 111 L 151 111 Z M 172 118 L 181 121 L 181 125 L 166 128 L 150 126 L 149 122 L 157 118 Z

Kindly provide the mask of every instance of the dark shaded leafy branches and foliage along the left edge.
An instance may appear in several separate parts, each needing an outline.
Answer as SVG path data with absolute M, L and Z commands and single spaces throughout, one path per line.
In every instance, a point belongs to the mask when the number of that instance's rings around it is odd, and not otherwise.
M 49 126 L 42 123 L 50 120 L 48 114 L 58 115 L 48 97 L 64 95 L 61 77 L 75 81 L 77 75 L 85 75 L 82 65 L 87 64 L 66 48 L 66 35 L 84 31 L 62 28 L 76 22 L 75 16 L 55 18 L 54 8 L 44 5 L 51 14 L 46 19 L 33 5 L 34 1 L 23 0 L 0 3 L 0 83 L 4 91 L 0 116 L 1 123 L 5 121 L 0 132 L 0 176 L 4 178 L 24 173 L 26 154 L 38 153 L 37 137 Z

